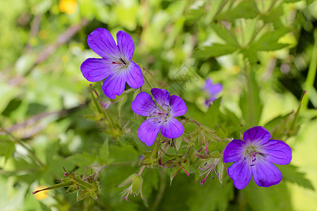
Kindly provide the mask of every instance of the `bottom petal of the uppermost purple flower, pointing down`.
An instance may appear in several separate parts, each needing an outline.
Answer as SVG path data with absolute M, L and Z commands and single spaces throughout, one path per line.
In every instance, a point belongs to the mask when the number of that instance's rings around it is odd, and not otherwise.
M 111 99 L 116 98 L 116 95 L 121 95 L 125 90 L 125 77 L 121 72 L 116 72 L 110 77 L 107 77 L 102 84 L 104 94 Z

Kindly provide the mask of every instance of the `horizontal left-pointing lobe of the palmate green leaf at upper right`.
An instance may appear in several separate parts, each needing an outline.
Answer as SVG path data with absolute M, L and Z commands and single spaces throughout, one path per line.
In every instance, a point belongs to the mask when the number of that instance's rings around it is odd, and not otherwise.
M 205 46 L 194 52 L 194 57 L 210 58 L 227 55 L 237 51 L 237 46 L 230 46 L 224 44 L 213 44 L 212 46 Z

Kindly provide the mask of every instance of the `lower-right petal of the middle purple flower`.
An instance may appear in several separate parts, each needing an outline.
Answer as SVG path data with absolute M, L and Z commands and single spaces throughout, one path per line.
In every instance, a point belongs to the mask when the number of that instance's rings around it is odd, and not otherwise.
M 184 132 L 184 126 L 174 117 L 168 117 L 165 122 L 162 123 L 161 134 L 168 138 L 178 138 Z

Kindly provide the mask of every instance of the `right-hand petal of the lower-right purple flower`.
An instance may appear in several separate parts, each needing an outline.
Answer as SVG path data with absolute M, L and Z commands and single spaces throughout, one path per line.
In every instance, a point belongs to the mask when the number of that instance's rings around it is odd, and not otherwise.
M 261 146 L 261 153 L 266 154 L 266 161 L 278 165 L 287 165 L 292 160 L 292 149 L 283 141 L 270 140 Z

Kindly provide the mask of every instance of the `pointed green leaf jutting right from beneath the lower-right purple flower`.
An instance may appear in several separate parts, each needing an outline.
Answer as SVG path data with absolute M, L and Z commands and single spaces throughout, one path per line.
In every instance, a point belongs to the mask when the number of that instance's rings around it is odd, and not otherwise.
M 298 167 L 295 167 L 294 165 L 278 165 L 278 168 L 280 172 L 282 172 L 283 179 L 315 191 L 311 181 L 305 178 L 304 173 L 298 171 Z

